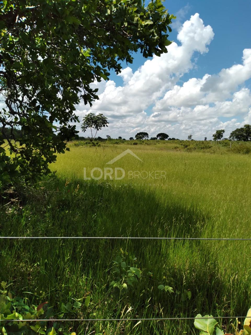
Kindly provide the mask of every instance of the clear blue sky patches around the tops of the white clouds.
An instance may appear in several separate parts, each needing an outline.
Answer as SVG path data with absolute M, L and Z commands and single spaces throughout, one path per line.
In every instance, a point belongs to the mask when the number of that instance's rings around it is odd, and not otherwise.
M 235 63 L 241 63 L 242 50 L 251 48 L 251 1 L 250 0 L 197 0 L 197 1 L 165 1 L 164 5 L 170 14 L 177 15 L 173 20 L 181 24 L 194 13 L 199 13 L 205 25 L 210 24 L 215 32 L 210 50 L 206 55 L 198 56 L 197 68 L 183 76 L 187 80 L 192 76 L 202 77 L 204 73 L 218 73 L 222 68 L 228 68 Z M 172 27 L 172 25 L 171 25 Z M 176 29 L 169 35 L 170 40 L 177 41 Z M 135 71 L 144 62 L 142 54 L 134 55 L 135 59 L 130 67 Z M 124 64 L 124 67 L 127 65 Z M 110 79 L 117 84 L 123 81 L 115 73 Z M 247 86 L 247 84 L 246 84 Z M 251 80 L 248 81 L 251 88 Z

